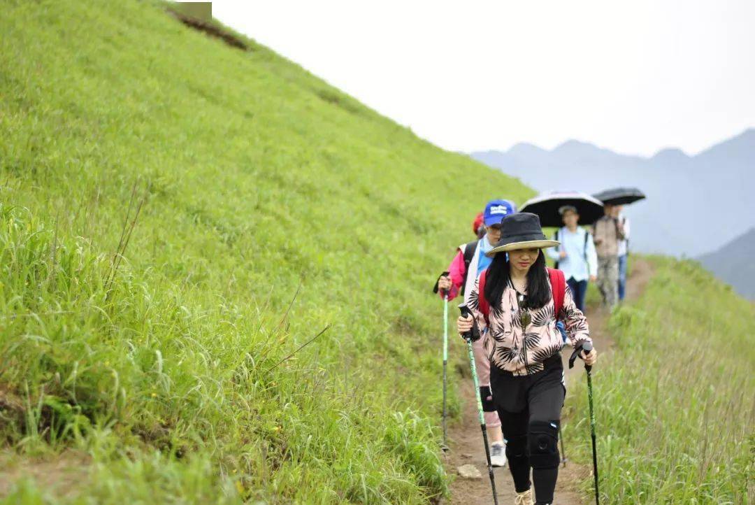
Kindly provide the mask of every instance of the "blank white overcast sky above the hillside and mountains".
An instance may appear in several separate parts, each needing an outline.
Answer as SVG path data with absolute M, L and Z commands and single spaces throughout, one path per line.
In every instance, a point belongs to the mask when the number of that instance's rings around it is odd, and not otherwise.
M 753 0 L 215 0 L 213 14 L 445 149 L 694 154 L 755 127 Z

